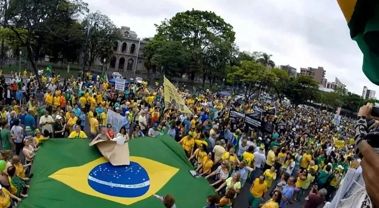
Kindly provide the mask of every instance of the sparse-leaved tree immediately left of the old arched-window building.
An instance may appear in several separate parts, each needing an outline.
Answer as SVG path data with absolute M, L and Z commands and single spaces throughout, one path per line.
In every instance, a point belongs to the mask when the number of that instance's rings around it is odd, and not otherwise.
M 112 20 L 100 12 L 90 13 L 82 23 L 88 33 L 88 64 L 91 66 L 95 58 L 110 60 L 113 57 L 114 42 L 121 39 L 121 32 Z

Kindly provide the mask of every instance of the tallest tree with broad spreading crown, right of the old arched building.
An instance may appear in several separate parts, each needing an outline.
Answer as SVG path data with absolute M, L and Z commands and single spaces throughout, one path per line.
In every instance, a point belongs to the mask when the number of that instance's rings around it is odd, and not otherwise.
M 213 12 L 191 10 L 177 13 L 171 19 L 165 19 L 156 25 L 154 38 L 183 43 L 189 54 L 191 84 L 195 74 L 202 69 L 202 57 L 206 48 L 218 39 L 220 42 L 233 43 L 233 27 Z

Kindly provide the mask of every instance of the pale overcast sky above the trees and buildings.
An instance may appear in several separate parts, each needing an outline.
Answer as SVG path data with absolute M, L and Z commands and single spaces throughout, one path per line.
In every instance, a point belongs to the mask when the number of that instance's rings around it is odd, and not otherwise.
M 272 54 L 276 65 L 324 67 L 349 91 L 362 95 L 363 86 L 378 91 L 362 72 L 362 53 L 350 39 L 336 0 L 85 0 L 91 12 L 108 15 L 138 37 L 155 35 L 154 24 L 176 13 L 213 11 L 231 24 L 241 51 Z M 379 97 L 379 91 L 377 92 Z

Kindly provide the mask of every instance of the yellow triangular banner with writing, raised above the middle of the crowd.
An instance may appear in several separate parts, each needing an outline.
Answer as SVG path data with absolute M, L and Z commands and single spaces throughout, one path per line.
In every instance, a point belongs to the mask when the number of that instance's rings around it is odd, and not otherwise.
M 184 103 L 183 98 L 180 97 L 178 90 L 176 90 L 176 87 L 172 85 L 172 83 L 166 77 L 163 79 L 163 87 L 165 90 L 165 109 L 175 109 L 185 114 L 192 114 L 187 105 Z

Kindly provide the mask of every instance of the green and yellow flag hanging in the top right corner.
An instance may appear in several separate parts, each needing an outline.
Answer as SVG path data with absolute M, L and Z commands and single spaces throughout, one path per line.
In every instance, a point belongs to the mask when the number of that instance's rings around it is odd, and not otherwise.
M 379 85 L 379 1 L 337 0 L 350 29 L 350 37 L 363 53 L 363 73 Z

